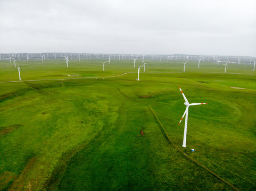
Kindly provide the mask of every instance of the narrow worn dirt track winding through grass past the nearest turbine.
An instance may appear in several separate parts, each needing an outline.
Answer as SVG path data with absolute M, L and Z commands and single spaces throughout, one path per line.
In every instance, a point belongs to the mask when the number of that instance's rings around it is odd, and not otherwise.
M 159 123 L 159 125 L 161 126 L 162 130 L 164 131 L 164 133 L 166 134 L 166 137 L 168 138 L 168 141 L 169 141 L 172 145 L 174 145 L 174 147 L 175 147 L 179 152 L 183 153 L 188 159 L 190 159 L 191 161 L 193 161 L 194 163 L 196 163 L 198 166 L 204 168 L 204 169 L 207 170 L 208 172 L 210 172 L 213 176 L 217 177 L 218 179 L 220 179 L 221 181 L 223 181 L 224 183 L 226 183 L 228 186 L 232 187 L 233 189 L 235 189 L 235 190 L 237 190 L 237 191 L 240 191 L 240 189 L 238 189 L 238 188 L 236 188 L 235 186 L 233 186 L 232 184 L 228 183 L 228 181 L 226 181 L 225 179 L 221 178 L 219 175 L 217 175 L 216 173 L 214 173 L 213 171 L 211 171 L 211 170 L 208 169 L 207 167 L 204 167 L 203 164 L 199 163 L 198 161 L 196 161 L 195 159 L 193 159 L 192 157 L 190 157 L 189 155 L 187 155 L 183 150 L 181 150 L 177 145 L 175 145 L 174 142 L 171 141 L 170 136 L 168 135 L 166 129 L 164 129 L 164 127 L 163 127 L 161 121 L 159 120 L 158 116 L 156 116 L 154 110 L 152 109 L 152 107 L 151 107 L 148 103 L 145 103 L 145 102 L 138 101 L 138 100 L 135 100 L 135 99 L 133 99 L 133 98 L 130 98 L 130 97 L 128 97 L 128 95 L 124 94 L 120 89 L 119 89 L 119 92 L 120 92 L 122 95 L 124 95 L 125 97 L 127 97 L 127 98 L 129 98 L 129 99 L 131 99 L 131 100 L 134 100 L 134 101 L 136 101 L 136 102 L 143 103 L 143 104 L 147 105 L 147 106 L 150 108 L 150 110 L 151 110 L 153 116 L 156 118 L 156 120 L 158 120 L 158 123 Z

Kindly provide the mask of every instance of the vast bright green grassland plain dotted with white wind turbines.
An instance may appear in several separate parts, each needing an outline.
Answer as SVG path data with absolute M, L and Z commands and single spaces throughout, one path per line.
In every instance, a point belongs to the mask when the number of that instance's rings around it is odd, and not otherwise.
M 0 60 L 0 190 L 234 190 L 184 153 L 237 189 L 256 189 L 252 64 L 224 74 L 188 61 L 184 73 L 180 61 L 145 60 L 136 81 L 133 60 L 113 59 L 105 72 L 100 59 L 70 61 L 17 61 L 18 82 Z M 185 148 L 178 86 L 189 102 L 209 103 L 189 107 Z

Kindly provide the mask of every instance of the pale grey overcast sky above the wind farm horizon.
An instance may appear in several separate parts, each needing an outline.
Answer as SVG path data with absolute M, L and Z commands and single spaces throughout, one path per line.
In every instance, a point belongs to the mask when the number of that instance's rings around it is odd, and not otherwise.
M 0 0 L 0 53 L 256 56 L 255 0 Z

